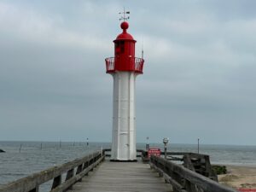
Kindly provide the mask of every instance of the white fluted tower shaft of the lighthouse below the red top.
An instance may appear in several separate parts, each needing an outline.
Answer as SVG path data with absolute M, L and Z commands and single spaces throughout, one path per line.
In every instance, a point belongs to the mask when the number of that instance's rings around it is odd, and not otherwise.
M 137 160 L 134 72 L 113 76 L 113 135 L 111 160 Z

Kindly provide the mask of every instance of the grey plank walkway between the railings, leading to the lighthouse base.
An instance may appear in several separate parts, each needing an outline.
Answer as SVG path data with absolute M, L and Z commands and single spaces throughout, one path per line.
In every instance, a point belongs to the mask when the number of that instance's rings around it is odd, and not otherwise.
M 83 181 L 73 185 L 73 192 L 171 192 L 158 173 L 142 162 L 102 162 Z

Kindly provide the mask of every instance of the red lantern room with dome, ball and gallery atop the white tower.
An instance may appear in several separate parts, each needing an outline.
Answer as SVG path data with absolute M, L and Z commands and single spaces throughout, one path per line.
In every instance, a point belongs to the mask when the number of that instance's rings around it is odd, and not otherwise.
M 136 40 L 127 32 L 129 28 L 128 22 L 122 22 L 120 27 L 123 32 L 113 40 L 114 57 L 109 57 L 105 60 L 107 73 L 116 71 L 143 73 L 144 60 L 135 57 Z

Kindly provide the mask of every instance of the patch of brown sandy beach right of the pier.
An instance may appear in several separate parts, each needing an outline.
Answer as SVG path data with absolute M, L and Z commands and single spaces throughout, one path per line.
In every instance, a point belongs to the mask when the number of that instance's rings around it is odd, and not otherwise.
M 256 166 L 226 167 L 228 173 L 218 175 L 219 183 L 223 183 L 235 189 L 255 189 L 256 191 Z

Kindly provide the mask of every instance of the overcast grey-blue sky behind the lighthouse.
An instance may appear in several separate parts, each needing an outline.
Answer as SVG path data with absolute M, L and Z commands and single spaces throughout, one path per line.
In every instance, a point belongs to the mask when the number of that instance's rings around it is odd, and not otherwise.
M 0 140 L 111 141 L 124 6 L 144 47 L 137 142 L 256 145 L 254 0 L 1 0 Z

